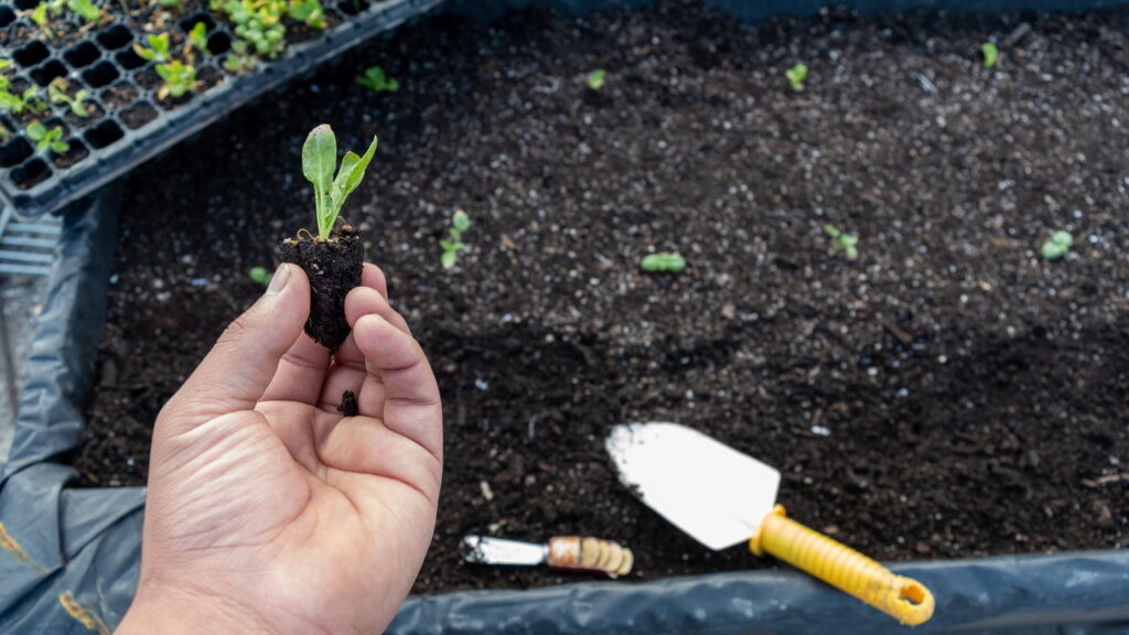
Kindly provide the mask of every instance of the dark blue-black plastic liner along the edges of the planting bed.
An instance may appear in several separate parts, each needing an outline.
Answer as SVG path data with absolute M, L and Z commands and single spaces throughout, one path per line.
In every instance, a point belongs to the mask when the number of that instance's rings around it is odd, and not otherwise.
M 595 5 L 564 2 L 574 9 Z M 995 5 L 1044 8 L 1034 1 Z M 1067 5 L 1080 9 L 1084 3 Z M 1097 5 L 1109 2 L 1088 3 Z M 135 589 L 145 490 L 65 487 L 77 478 L 64 464 L 64 454 L 79 438 L 81 406 L 105 321 L 116 209 L 116 191 L 110 190 L 67 210 L 20 415 L 0 425 L 0 633 L 108 633 Z M 936 595 L 935 617 L 916 633 L 1129 635 L 1129 550 L 902 563 L 890 568 L 920 580 Z M 909 630 L 806 575 L 780 569 L 415 597 L 388 633 Z

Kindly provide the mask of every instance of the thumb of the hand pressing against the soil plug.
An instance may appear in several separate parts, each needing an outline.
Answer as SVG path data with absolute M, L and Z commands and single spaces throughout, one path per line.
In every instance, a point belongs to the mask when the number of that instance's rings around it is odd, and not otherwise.
M 306 272 L 279 266 L 266 293 L 224 331 L 163 414 L 191 426 L 253 409 L 308 315 Z

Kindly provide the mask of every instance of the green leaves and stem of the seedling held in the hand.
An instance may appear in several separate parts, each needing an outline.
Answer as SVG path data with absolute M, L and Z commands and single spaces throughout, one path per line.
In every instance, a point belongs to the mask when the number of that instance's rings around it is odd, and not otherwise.
M 345 153 L 341 159 L 341 168 L 334 177 L 338 141 L 333 130 L 322 124 L 306 137 L 306 143 L 301 147 L 301 173 L 314 184 L 317 236 L 321 240 L 329 240 L 333 225 L 341 214 L 341 207 L 345 205 L 349 194 L 360 185 L 374 154 L 376 154 L 376 137 L 373 137 L 365 156 L 357 156 L 352 151 Z

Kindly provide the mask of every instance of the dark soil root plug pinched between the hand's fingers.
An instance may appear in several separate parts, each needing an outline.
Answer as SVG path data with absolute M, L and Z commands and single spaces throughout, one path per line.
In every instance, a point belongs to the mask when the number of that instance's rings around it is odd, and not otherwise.
M 309 276 L 313 294 L 306 332 L 317 343 L 336 350 L 349 337 L 345 296 L 360 286 L 365 264 L 360 232 L 344 224 L 339 225 L 327 241 L 308 236 L 286 238 L 279 243 L 279 259 L 301 267 Z

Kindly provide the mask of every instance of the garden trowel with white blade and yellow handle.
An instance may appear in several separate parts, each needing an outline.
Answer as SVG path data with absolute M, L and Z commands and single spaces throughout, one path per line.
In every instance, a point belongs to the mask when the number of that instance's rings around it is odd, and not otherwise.
M 605 441 L 620 480 L 644 503 L 714 550 L 749 541 L 902 624 L 933 616 L 933 593 L 785 515 L 780 472 L 679 424 L 615 426 Z

